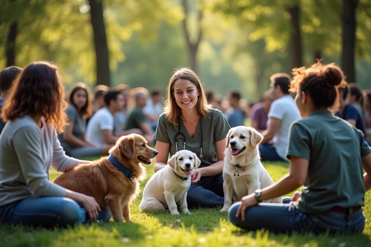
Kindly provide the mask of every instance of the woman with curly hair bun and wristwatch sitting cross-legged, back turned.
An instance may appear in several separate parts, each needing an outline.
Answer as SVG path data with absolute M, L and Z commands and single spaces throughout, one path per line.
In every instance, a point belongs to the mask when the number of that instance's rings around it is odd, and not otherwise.
M 365 226 L 361 206 L 365 190 L 371 188 L 371 149 L 361 131 L 330 111 L 339 106 L 343 72 L 335 64 L 318 62 L 308 69 L 293 69 L 293 75 L 290 90 L 297 93 L 303 119 L 290 127 L 286 151 L 290 172 L 233 204 L 229 218 L 248 230 L 361 233 Z M 301 185 L 290 204 L 259 203 Z

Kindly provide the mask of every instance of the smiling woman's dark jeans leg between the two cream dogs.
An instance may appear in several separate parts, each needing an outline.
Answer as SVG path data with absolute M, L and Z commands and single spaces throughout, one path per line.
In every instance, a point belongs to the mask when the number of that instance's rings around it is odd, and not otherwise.
M 191 184 L 187 204 L 188 208 L 223 206 L 223 174 L 201 177 L 197 184 Z

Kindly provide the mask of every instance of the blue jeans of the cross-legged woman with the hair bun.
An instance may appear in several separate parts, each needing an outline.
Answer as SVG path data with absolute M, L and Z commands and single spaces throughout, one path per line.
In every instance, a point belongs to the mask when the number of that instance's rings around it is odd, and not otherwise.
M 362 209 L 356 212 L 336 213 L 327 211 L 319 214 L 307 214 L 297 209 L 292 203 L 259 203 L 247 208 L 245 220 L 236 218 L 241 202 L 234 203 L 228 211 L 232 224 L 246 230 L 265 228 L 273 232 L 312 232 L 326 233 L 361 233 L 365 227 L 365 215 Z

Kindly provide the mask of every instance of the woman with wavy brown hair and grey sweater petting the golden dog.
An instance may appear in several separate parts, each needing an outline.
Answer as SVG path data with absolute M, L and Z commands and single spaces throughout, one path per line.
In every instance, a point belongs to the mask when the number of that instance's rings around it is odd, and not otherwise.
M 98 218 L 93 197 L 49 180 L 50 165 L 67 172 L 89 162 L 66 156 L 60 146 L 56 130 L 65 125 L 65 105 L 56 66 L 34 62 L 23 70 L 2 111 L 0 224 L 52 227 Z M 103 212 L 104 219 L 111 217 Z

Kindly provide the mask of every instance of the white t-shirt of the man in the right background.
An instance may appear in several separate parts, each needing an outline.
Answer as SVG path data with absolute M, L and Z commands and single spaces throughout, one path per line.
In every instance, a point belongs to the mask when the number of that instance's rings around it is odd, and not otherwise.
M 281 120 L 281 124 L 272 139 L 273 147 L 276 148 L 279 157 L 288 160 L 285 154 L 289 141 L 289 128 L 293 121 L 301 118 L 299 109 L 292 97 L 286 95 L 273 101 L 268 113 L 267 126 L 271 117 Z

